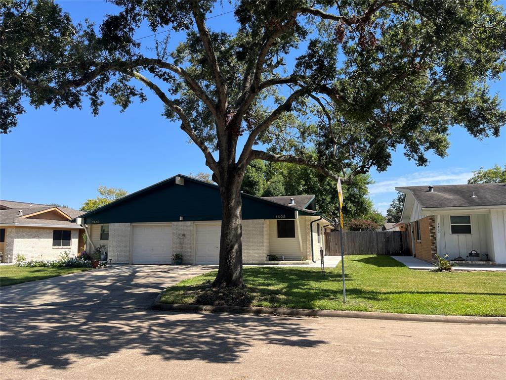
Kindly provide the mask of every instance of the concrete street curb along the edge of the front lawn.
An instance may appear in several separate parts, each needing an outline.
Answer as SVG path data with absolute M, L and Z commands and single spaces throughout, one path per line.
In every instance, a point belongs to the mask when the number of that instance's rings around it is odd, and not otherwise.
M 332 317 L 332 318 L 362 318 L 383 319 L 390 321 L 412 322 L 443 322 L 443 323 L 480 323 L 480 324 L 506 324 L 506 317 L 472 317 L 457 315 L 426 315 L 426 314 L 397 314 L 374 312 L 350 312 L 342 310 L 308 310 L 285 308 L 262 308 L 242 306 L 210 306 L 210 305 L 174 305 L 160 302 L 161 293 L 158 294 L 153 305 L 155 310 L 173 312 L 211 312 L 233 314 L 268 314 L 286 317 Z

